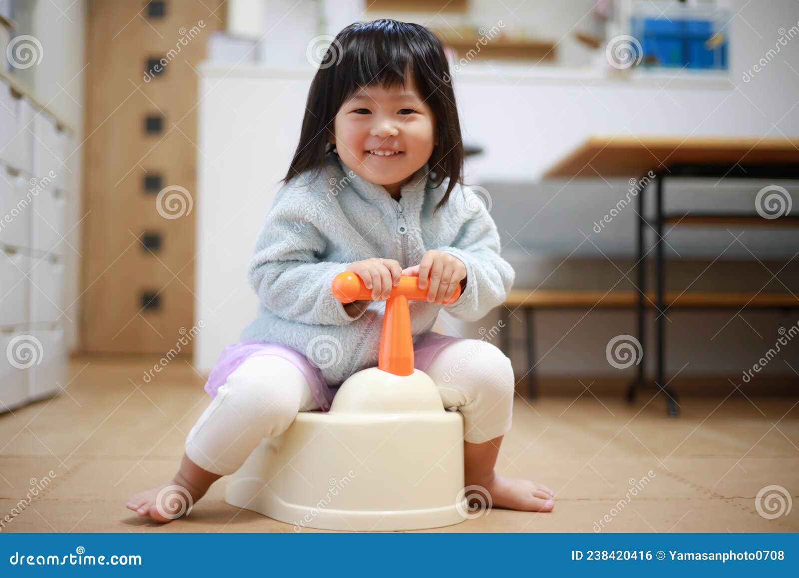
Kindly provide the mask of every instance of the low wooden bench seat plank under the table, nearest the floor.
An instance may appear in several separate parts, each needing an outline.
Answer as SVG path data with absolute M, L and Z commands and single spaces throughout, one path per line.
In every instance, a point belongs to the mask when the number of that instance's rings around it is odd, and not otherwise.
M 646 293 L 644 305 L 654 307 L 655 295 Z M 505 305 L 539 309 L 619 309 L 634 307 L 635 291 L 512 289 Z M 733 291 L 666 292 L 663 302 L 670 308 L 682 309 L 783 309 L 799 308 L 799 297 L 790 293 L 751 293 Z

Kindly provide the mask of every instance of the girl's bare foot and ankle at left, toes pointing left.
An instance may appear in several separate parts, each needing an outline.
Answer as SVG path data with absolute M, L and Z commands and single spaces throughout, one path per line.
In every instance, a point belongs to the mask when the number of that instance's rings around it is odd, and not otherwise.
M 130 496 L 125 508 L 157 522 L 171 522 L 187 516 L 219 478 L 219 474 L 206 472 L 184 454 L 180 470 L 169 483 Z

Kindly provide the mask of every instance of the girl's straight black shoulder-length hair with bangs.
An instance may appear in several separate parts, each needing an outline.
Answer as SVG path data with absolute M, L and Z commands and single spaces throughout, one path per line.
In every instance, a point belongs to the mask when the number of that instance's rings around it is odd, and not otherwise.
M 367 86 L 405 86 L 410 72 L 419 95 L 435 115 L 438 144 L 428 161 L 433 186 L 449 177 L 439 209 L 457 183 L 463 183 L 463 142 L 449 64 L 439 38 L 419 24 L 397 20 L 355 22 L 341 30 L 328 46 L 316 71 L 292 163 L 283 182 L 312 170 L 319 175 L 325 157 L 335 145 L 329 142 L 332 122 L 344 102 Z

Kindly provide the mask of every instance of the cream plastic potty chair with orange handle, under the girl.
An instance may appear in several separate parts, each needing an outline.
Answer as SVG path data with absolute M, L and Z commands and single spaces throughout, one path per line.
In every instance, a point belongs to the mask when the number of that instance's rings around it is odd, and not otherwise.
M 355 273 L 340 273 L 332 291 L 344 303 L 371 299 Z M 408 300 L 425 298 L 418 277 L 400 278 L 386 301 L 378 367 L 344 381 L 328 413 L 300 412 L 282 435 L 264 438 L 231 476 L 225 501 L 296 531 L 466 519 L 463 417 L 444 409 L 431 378 L 413 367 Z

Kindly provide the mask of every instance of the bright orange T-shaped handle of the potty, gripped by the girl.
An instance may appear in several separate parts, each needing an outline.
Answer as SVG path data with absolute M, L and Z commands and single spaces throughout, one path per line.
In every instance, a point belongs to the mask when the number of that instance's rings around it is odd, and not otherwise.
M 372 289 L 355 273 L 339 273 L 332 283 L 333 297 L 342 303 L 371 300 Z M 460 287 L 455 288 L 450 304 L 460 297 Z M 411 311 L 408 301 L 427 299 L 427 289 L 419 289 L 419 277 L 400 277 L 386 301 L 383 317 L 383 333 L 380 335 L 380 355 L 377 367 L 395 375 L 413 373 L 413 333 L 411 333 Z

